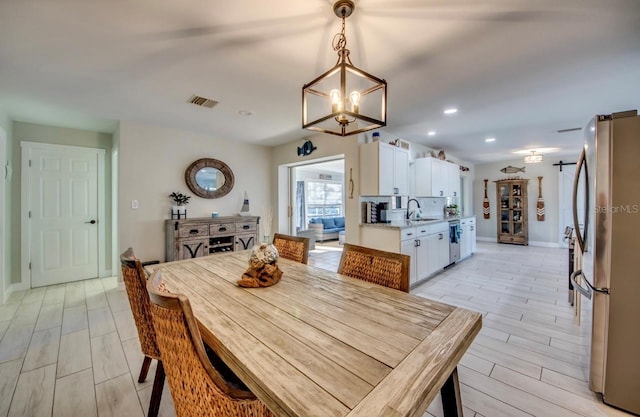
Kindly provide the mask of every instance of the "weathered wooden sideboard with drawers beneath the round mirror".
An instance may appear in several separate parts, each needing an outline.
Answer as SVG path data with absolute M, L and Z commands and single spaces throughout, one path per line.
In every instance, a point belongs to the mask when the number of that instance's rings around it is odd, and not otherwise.
M 259 223 L 256 216 L 166 220 L 167 262 L 250 249 L 260 241 Z

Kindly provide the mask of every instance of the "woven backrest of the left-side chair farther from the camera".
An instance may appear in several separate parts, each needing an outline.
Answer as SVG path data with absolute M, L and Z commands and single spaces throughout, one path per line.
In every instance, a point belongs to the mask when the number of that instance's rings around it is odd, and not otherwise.
M 150 358 L 159 359 L 160 350 L 156 344 L 156 331 L 151 321 L 149 294 L 147 293 L 147 274 L 131 248 L 120 255 L 120 264 L 133 320 L 138 329 L 142 353 Z

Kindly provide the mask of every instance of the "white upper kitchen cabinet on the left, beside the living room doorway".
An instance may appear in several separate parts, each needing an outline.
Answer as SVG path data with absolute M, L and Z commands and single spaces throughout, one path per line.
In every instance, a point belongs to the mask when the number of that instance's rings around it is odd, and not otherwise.
M 360 145 L 360 195 L 409 195 L 409 151 L 383 142 Z

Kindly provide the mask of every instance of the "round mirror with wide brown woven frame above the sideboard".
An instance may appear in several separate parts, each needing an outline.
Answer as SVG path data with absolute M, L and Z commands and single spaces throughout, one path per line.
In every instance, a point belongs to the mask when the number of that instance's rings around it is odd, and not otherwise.
M 219 198 L 233 188 L 233 172 L 229 165 L 213 158 L 194 161 L 184 173 L 189 189 L 198 197 Z

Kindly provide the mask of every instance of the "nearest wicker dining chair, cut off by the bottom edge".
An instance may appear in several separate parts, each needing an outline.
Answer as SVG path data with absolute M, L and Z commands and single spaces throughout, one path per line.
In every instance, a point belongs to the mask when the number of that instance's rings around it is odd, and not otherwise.
M 151 314 L 178 417 L 275 417 L 209 360 L 189 299 L 162 291 L 162 272 L 149 279 Z

